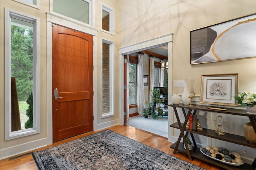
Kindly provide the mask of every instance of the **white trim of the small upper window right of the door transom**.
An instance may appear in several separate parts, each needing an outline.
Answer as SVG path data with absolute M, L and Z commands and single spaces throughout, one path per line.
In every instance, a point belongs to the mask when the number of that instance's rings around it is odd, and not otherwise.
M 103 19 L 103 15 L 102 15 L 102 10 L 106 11 L 109 13 L 109 31 L 106 31 L 104 29 L 102 29 L 102 19 Z M 114 10 L 108 6 L 106 6 L 105 4 L 102 4 L 101 6 L 101 22 L 100 22 L 100 30 L 102 32 L 106 32 L 106 33 L 110 33 L 112 35 L 115 35 L 115 22 L 114 22 Z

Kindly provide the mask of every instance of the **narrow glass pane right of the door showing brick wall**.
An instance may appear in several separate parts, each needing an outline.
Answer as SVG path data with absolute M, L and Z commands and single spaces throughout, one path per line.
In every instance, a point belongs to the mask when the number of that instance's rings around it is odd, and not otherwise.
M 102 113 L 110 112 L 109 44 L 102 43 Z

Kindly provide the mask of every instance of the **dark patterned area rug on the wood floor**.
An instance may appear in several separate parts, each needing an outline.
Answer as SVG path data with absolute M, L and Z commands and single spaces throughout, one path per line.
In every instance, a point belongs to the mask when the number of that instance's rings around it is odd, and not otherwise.
M 203 170 L 110 130 L 32 155 L 39 170 Z

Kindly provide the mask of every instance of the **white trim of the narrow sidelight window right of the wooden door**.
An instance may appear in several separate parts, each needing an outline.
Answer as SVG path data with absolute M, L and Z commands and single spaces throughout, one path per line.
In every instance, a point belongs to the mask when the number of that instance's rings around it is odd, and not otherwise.
M 109 113 L 102 113 L 101 118 L 114 116 L 114 42 L 102 39 L 102 43 L 109 44 Z M 101 43 L 101 51 L 102 51 L 102 43 Z M 101 54 L 102 55 L 102 54 Z M 102 68 L 102 58 L 101 56 L 101 71 Z M 101 77 L 101 82 L 103 82 Z M 103 88 L 101 88 L 101 94 L 103 93 Z M 101 95 L 102 96 L 102 95 Z M 101 97 L 101 108 L 103 97 Z

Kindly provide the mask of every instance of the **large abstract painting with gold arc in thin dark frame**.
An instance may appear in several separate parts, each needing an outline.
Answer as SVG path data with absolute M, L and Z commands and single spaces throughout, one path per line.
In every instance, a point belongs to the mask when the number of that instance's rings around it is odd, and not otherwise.
M 190 64 L 256 57 L 256 14 L 190 31 Z

